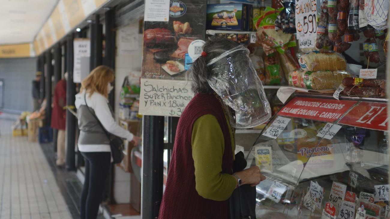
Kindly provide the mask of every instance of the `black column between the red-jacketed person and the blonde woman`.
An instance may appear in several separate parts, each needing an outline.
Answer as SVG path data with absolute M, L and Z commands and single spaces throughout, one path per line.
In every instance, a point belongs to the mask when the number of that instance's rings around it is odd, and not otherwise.
M 73 35 L 67 36 L 66 42 L 66 64 L 68 79 L 66 83 L 66 104 L 74 105 L 76 95 L 76 85 L 73 83 Z M 76 138 L 76 118 L 74 115 L 66 111 L 66 170 L 76 170 L 76 158 L 74 153 Z

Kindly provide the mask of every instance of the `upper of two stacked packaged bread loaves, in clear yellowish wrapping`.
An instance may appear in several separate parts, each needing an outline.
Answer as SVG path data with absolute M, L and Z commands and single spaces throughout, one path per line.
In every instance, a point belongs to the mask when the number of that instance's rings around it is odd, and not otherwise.
M 298 61 L 301 68 L 306 71 L 345 71 L 347 68 L 344 57 L 335 52 L 313 51 L 301 54 Z

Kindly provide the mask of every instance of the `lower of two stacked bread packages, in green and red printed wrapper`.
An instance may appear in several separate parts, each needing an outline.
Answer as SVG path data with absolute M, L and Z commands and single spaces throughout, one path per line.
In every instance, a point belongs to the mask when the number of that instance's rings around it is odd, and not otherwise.
M 337 89 L 348 76 L 345 71 L 307 71 L 303 74 L 303 83 L 307 89 Z

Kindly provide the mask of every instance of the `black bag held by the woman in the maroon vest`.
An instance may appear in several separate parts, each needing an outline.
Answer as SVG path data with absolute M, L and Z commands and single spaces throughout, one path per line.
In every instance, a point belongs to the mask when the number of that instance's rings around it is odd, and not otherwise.
M 236 154 L 233 164 L 233 173 L 241 171 L 246 167 L 246 160 L 243 152 Z M 241 185 L 234 189 L 229 199 L 229 219 L 255 219 L 256 213 L 256 187 Z

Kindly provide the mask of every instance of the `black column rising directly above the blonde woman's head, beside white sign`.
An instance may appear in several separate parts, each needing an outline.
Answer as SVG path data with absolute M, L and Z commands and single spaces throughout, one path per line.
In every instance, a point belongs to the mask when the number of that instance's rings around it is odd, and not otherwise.
M 95 21 L 90 23 L 91 55 L 89 67 L 92 71 L 103 64 L 103 25 L 100 24 L 99 14 L 95 14 Z

